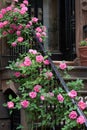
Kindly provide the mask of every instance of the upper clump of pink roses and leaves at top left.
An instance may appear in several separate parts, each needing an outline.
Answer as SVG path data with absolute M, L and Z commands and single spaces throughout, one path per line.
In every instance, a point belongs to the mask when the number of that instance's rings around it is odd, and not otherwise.
M 38 18 L 30 17 L 28 7 L 28 0 L 23 0 L 0 10 L 0 38 L 6 37 L 7 43 L 13 47 L 29 45 L 33 33 L 40 42 L 46 38 L 46 27 L 39 23 Z

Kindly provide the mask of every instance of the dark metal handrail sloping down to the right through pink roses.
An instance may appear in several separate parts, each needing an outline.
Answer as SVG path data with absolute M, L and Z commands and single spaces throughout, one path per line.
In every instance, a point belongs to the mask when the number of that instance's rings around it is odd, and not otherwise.
M 43 52 L 44 55 L 47 55 L 46 54 L 46 51 L 44 49 L 44 46 L 38 42 L 38 45 L 41 49 L 41 51 Z M 66 85 L 64 79 L 62 78 L 61 74 L 59 73 L 57 67 L 55 66 L 55 64 L 53 63 L 52 59 L 48 56 L 48 60 L 50 62 L 50 65 L 51 65 L 51 68 L 52 70 L 54 71 L 55 75 L 56 75 L 56 78 L 60 81 L 61 85 L 63 86 L 64 90 L 69 93 L 69 89 L 68 89 L 68 86 Z M 74 100 L 74 99 L 71 99 L 71 101 L 73 102 L 74 105 L 76 105 L 77 107 L 77 111 L 79 113 L 80 116 L 83 116 L 85 118 L 85 126 L 87 127 L 87 118 L 86 116 L 84 115 L 83 111 L 78 107 L 77 105 L 77 102 Z

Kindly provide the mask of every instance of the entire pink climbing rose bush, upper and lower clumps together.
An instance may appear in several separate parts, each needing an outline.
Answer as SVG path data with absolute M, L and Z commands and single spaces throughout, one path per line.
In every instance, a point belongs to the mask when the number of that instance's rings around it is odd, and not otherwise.
M 35 36 L 39 42 L 43 42 L 46 38 L 46 27 L 39 23 L 38 18 L 29 17 L 28 0 L 23 0 L 20 4 L 18 0 L 14 1 L 15 5 L 0 10 L 0 38 L 7 38 L 11 47 L 29 46 Z M 47 56 L 35 49 L 29 49 L 7 68 L 14 72 L 11 80 L 19 86 L 16 97 L 10 94 L 5 105 L 10 113 L 15 109 L 23 109 L 29 113 L 29 120 L 37 122 L 39 126 L 54 127 L 65 122 L 62 130 L 71 130 L 85 123 L 85 118 L 79 116 L 71 101 L 78 100 L 77 91 L 82 87 L 82 81 L 68 83 L 70 91 L 67 94 L 55 80 Z M 64 62 L 59 65 L 59 69 L 67 74 L 67 65 Z M 83 111 L 87 109 L 82 101 L 78 106 Z

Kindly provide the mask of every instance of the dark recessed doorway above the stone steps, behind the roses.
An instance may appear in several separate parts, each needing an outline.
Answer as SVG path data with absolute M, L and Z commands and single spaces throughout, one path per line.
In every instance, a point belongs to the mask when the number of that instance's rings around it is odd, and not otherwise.
M 32 0 L 30 13 L 47 27 L 46 50 L 53 60 L 74 60 L 75 0 Z

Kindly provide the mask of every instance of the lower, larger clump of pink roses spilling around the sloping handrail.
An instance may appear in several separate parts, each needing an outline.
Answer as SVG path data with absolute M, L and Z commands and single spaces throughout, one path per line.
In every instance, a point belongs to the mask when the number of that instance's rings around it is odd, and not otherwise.
M 10 111 L 24 109 L 33 122 L 39 122 L 38 126 L 53 127 L 55 122 L 58 125 L 65 121 L 62 130 L 80 127 L 85 118 L 79 116 L 71 99 L 78 101 L 77 91 L 83 86 L 82 81 L 68 82 L 70 91 L 66 93 L 60 84 L 55 83 L 55 75 L 49 66 L 47 56 L 33 49 L 13 61 L 8 68 L 14 71 L 12 81 L 19 84 L 19 94 L 16 98 L 10 95 L 6 106 Z M 61 66 L 62 63 L 60 69 Z M 87 109 L 84 101 L 78 101 L 78 106 L 83 111 Z

